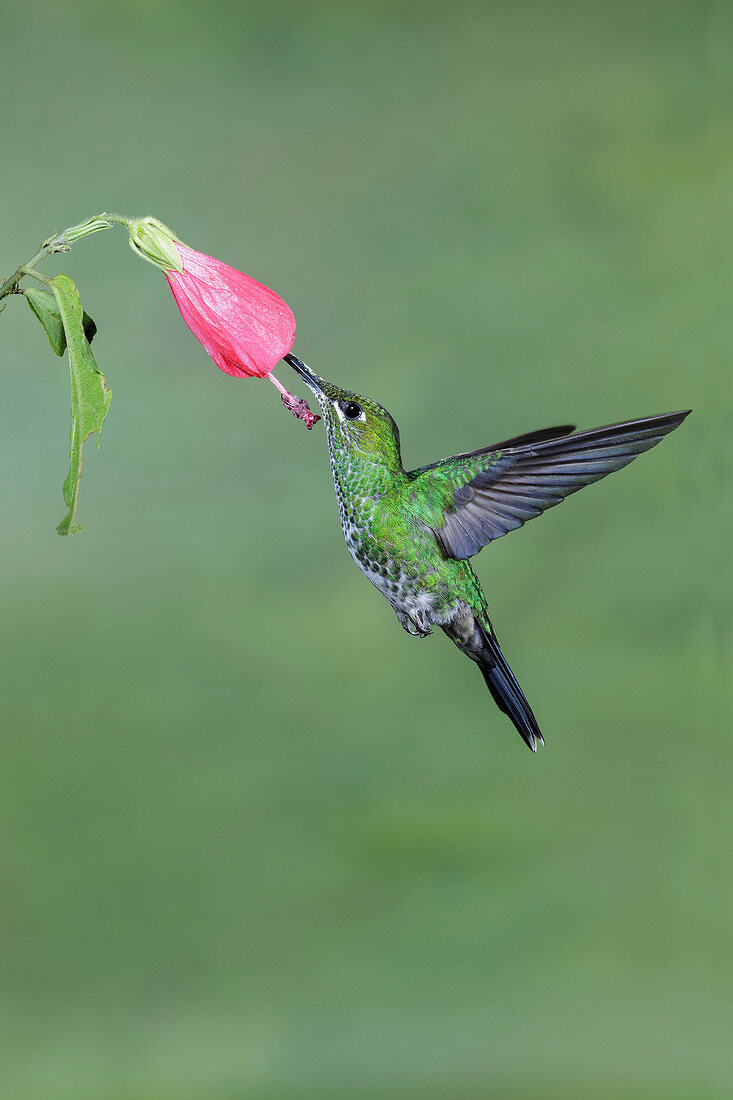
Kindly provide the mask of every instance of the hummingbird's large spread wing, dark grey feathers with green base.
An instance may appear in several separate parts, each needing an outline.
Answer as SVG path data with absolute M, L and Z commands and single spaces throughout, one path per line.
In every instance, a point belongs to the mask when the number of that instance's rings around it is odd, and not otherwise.
M 626 420 L 573 433 L 548 428 L 409 474 L 427 504 L 445 552 L 471 558 L 583 485 L 600 481 L 655 447 L 690 410 Z

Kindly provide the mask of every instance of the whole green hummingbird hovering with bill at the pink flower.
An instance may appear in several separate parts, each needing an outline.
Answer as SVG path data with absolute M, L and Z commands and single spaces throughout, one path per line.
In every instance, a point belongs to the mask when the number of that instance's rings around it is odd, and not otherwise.
M 376 402 L 285 360 L 320 406 L 351 557 L 408 634 L 437 625 L 481 669 L 489 691 L 533 752 L 544 738 L 510 669 L 469 561 L 583 485 L 655 447 L 689 414 L 667 413 L 576 432 L 573 425 L 515 436 L 405 470 L 400 430 Z

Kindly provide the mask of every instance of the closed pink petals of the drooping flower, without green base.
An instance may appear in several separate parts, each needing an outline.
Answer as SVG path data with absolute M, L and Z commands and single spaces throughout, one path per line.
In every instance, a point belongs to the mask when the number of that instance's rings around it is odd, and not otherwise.
M 185 244 L 173 246 L 182 271 L 168 270 L 165 277 L 190 331 L 227 374 L 266 377 L 293 346 L 291 307 L 236 267 Z

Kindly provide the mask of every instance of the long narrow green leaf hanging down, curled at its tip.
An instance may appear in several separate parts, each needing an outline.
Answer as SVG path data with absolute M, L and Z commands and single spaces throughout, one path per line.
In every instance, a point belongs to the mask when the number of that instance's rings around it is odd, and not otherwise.
M 76 509 L 79 499 L 84 444 L 89 436 L 96 431 L 99 446 L 99 432 L 105 422 L 112 395 L 107 388 L 105 375 L 91 354 L 89 340 L 84 328 L 85 314 L 81 309 L 79 292 L 68 275 L 56 275 L 51 280 L 51 286 L 58 307 L 58 316 L 64 326 L 72 375 L 72 444 L 68 474 L 64 482 L 64 501 L 68 512 L 56 530 L 59 535 L 73 535 L 75 531 L 81 530 L 81 526 L 76 522 Z M 94 324 L 94 321 L 91 323 Z

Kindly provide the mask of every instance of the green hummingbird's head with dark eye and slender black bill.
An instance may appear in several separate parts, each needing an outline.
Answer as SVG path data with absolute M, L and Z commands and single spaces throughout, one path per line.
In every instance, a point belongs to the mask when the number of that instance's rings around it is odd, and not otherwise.
M 319 378 L 295 355 L 285 359 L 316 395 L 331 455 L 402 469 L 400 430 L 382 405 Z

